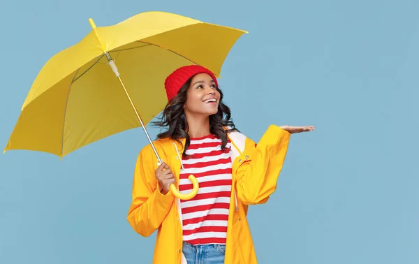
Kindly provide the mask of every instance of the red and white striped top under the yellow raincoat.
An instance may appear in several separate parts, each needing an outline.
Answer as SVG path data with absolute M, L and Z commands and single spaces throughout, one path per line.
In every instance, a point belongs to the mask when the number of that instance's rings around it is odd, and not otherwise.
M 221 139 L 215 135 L 191 138 L 182 157 L 179 191 L 192 189 L 189 175 L 199 182 L 198 194 L 181 200 L 183 240 L 191 244 L 226 244 L 228 208 L 231 193 L 231 142 L 221 150 Z

